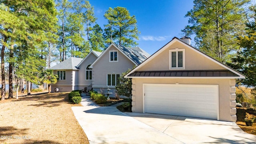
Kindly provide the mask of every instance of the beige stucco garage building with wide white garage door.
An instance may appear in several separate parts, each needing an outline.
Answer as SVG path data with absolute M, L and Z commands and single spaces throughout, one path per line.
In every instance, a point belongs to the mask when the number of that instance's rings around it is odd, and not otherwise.
M 244 75 L 174 37 L 126 74 L 132 112 L 236 121 L 236 78 Z

